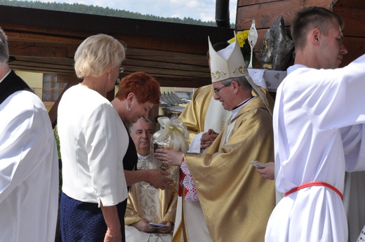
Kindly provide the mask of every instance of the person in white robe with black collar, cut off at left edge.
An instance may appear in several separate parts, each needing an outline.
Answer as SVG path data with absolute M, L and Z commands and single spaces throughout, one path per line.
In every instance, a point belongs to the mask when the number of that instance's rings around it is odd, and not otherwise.
M 0 241 L 55 240 L 58 153 L 46 107 L 8 66 L 0 29 Z

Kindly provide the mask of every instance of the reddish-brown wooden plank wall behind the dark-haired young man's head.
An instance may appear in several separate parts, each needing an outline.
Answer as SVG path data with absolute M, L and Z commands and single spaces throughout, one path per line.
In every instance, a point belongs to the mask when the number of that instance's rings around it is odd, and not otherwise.
M 349 53 L 344 56 L 343 64 L 364 53 L 365 6 L 364 0 L 239 0 L 237 2 L 236 30 L 249 29 L 255 19 L 258 30 L 258 43 L 255 46 L 256 58 L 260 57 L 263 38 L 275 20 L 282 15 L 290 36 L 290 25 L 298 9 L 305 6 L 321 6 L 333 10 L 345 22 L 344 44 Z

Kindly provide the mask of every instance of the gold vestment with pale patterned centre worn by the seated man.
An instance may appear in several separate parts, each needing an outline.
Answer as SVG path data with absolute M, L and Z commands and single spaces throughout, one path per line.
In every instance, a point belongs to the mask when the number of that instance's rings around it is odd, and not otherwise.
M 148 159 L 141 159 L 138 155 L 137 167 L 139 170 L 154 168 Z M 178 172 L 178 169 L 174 170 Z M 175 222 L 176 206 L 178 194 L 173 189 L 155 189 L 147 182 L 138 182 L 131 185 L 128 194 L 126 215 L 124 221 L 126 225 L 133 224 L 141 220 L 151 222 Z M 171 241 L 169 236 L 168 241 Z M 166 235 L 154 234 L 156 241 L 166 241 Z M 155 241 L 154 240 L 154 241 Z

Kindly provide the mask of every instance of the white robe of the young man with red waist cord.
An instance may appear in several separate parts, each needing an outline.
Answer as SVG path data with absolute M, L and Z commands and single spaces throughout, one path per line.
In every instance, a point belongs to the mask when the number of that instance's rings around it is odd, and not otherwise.
M 273 116 L 277 189 L 286 193 L 307 182 L 326 182 L 343 193 L 345 170 L 365 169 L 364 143 L 347 147 L 341 136 L 341 128 L 365 123 L 365 55 L 340 69 L 295 65 L 288 73 Z M 364 137 L 363 129 L 359 135 Z M 272 212 L 265 241 L 347 241 L 340 196 L 316 186 L 284 197 Z

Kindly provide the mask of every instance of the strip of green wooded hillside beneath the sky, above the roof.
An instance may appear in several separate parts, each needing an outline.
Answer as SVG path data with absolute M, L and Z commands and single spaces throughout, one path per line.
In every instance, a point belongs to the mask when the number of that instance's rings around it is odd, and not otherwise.
M 88 13 L 93 15 L 104 15 L 104 16 L 119 17 L 119 18 L 154 20 L 160 22 L 177 22 L 187 25 L 217 26 L 216 23 L 213 21 L 203 22 L 201 20 L 194 20 L 192 18 L 183 18 L 183 20 L 180 18 L 163 18 L 155 15 L 142 15 L 140 13 L 132 13 L 130 11 L 113 9 L 109 7 L 103 8 L 100 6 L 84 5 L 84 4 L 66 4 L 66 3 L 60 4 L 55 2 L 42 3 L 40 1 L 0 0 L 0 5 L 17 6 L 23 8 L 39 8 L 45 10 L 65 11 L 72 13 Z M 231 27 L 234 28 L 234 24 L 231 24 Z

